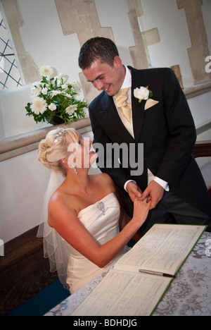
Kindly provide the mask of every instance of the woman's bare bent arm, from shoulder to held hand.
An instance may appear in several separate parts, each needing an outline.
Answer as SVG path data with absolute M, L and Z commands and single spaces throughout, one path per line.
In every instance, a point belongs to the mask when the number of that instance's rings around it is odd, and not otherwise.
M 56 229 L 79 253 L 94 262 L 98 267 L 105 267 L 123 248 L 142 226 L 148 215 L 150 203 L 135 200 L 134 216 L 122 231 L 107 243 L 100 245 L 79 221 L 75 209 L 67 207 L 63 200 L 54 199 L 49 203 L 49 225 Z

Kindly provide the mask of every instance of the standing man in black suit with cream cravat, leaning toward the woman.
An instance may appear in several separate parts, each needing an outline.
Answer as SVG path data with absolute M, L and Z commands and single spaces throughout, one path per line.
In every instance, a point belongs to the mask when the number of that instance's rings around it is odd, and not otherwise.
M 79 67 L 87 81 L 102 91 L 89 106 L 94 143 L 105 149 L 108 143 L 133 143 L 136 150 L 143 143 L 141 175 L 131 176 L 130 166 L 101 168 L 132 201 L 136 196 L 151 200 L 142 233 L 155 223 L 201 224 L 211 231 L 210 196 L 191 155 L 196 128 L 172 70 L 124 66 L 113 41 L 103 37 L 84 44 Z

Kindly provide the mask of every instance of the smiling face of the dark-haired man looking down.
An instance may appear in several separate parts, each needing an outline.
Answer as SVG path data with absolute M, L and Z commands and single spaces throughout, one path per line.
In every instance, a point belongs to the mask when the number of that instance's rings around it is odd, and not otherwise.
M 108 95 L 115 95 L 124 81 L 125 69 L 119 56 L 114 59 L 113 67 L 107 63 L 96 60 L 90 68 L 83 70 L 87 81 L 91 82 L 97 90 L 105 91 Z

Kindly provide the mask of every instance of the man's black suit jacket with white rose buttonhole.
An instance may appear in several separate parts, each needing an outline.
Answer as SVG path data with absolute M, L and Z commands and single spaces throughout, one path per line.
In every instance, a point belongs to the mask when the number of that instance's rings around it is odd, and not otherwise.
M 134 137 L 124 127 L 113 97 L 102 92 L 89 106 L 94 142 L 122 144 L 143 143 L 144 171 L 141 176 L 130 176 L 128 169 L 101 169 L 123 189 L 132 179 L 141 190 L 147 186 L 147 170 L 170 185 L 170 191 L 211 215 L 211 199 L 195 159 L 191 155 L 196 142 L 196 128 L 186 97 L 173 71 L 155 68 L 132 71 L 132 116 Z M 144 110 L 146 101 L 134 98 L 136 87 L 149 86 L 153 99 L 159 103 Z M 200 111 L 200 109 L 199 109 Z M 137 157 L 137 154 L 136 154 Z

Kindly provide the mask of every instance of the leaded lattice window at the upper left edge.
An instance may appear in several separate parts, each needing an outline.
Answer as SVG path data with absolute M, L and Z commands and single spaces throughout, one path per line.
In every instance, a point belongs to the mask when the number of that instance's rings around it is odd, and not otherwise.
M 0 90 L 22 86 L 8 31 L 0 13 Z

